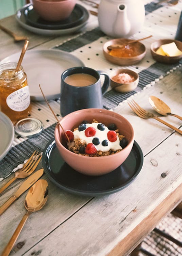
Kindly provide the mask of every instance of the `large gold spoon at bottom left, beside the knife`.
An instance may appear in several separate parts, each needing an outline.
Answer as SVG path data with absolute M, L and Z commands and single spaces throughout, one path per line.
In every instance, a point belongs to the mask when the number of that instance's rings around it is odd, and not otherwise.
M 32 212 L 39 211 L 47 202 L 48 195 L 48 183 L 46 180 L 38 180 L 28 191 L 28 194 L 24 201 L 24 206 L 27 209 L 27 213 L 24 214 L 22 220 L 19 223 L 19 226 L 14 231 L 13 236 L 6 245 L 1 256 L 8 256 L 15 244 L 17 238 L 19 237 L 21 230 L 27 221 L 29 215 Z

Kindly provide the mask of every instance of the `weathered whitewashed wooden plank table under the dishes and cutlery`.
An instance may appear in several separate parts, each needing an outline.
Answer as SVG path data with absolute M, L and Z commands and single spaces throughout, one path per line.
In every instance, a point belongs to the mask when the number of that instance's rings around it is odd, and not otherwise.
M 29 33 L 14 22 L 13 16 L 1 20 L 1 23 L 19 34 L 28 35 L 31 49 L 49 49 L 67 38 Z M 15 44 L 2 31 L 0 38 L 1 59 L 21 51 L 23 42 Z M 155 95 L 171 107 L 172 113 L 181 115 L 181 79 L 180 67 L 154 86 L 135 95 L 134 99 L 144 109 L 154 113 L 148 98 Z M 43 178 L 49 183 L 47 204 L 41 211 L 30 215 L 15 244 L 15 255 L 128 255 L 157 226 L 161 218 L 181 201 L 181 135 L 154 119 L 145 120 L 136 116 L 127 102 L 123 102 L 114 111 L 131 122 L 135 140 L 142 148 L 144 165 L 138 177 L 118 193 L 82 197 L 60 190 L 44 174 Z M 178 128 L 182 124 L 179 119 L 171 116 L 161 119 Z M 162 178 L 162 173 L 166 173 L 165 178 Z M 1 185 L 8 179 L 4 179 Z M 1 205 L 21 182 L 15 182 L 1 196 Z M 0 252 L 25 213 L 23 202 L 26 194 L 0 217 Z

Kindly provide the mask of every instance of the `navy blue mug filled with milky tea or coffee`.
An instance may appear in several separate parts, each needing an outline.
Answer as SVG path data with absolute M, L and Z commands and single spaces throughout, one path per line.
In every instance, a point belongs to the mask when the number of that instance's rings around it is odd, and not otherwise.
M 65 81 L 66 78 L 74 74 L 77 74 L 81 78 L 82 74 L 90 75 L 94 79 L 94 82 L 90 85 L 80 84 L 80 86 L 79 82 L 76 82 L 76 85 L 68 84 Z M 102 86 L 100 75 L 105 76 Z M 84 77 L 84 79 L 86 78 Z M 62 116 L 66 116 L 80 109 L 102 108 L 102 95 L 106 93 L 109 84 L 110 78 L 104 71 L 96 71 L 88 67 L 73 67 L 65 70 L 61 76 L 60 113 Z

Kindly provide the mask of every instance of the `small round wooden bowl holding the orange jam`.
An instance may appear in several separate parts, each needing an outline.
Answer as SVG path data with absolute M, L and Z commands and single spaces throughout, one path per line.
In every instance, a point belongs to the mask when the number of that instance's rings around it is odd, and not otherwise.
M 105 56 L 105 58 L 109 62 L 112 62 L 112 63 L 114 63 L 116 65 L 119 65 L 119 66 L 130 66 L 130 65 L 134 65 L 134 64 L 140 62 L 146 54 L 145 45 L 140 43 L 140 42 L 136 42 L 136 43 L 131 44 L 133 47 L 135 47 L 135 50 L 137 52 L 137 56 L 135 56 L 135 57 L 119 58 L 119 57 L 111 56 L 109 54 L 110 50 L 108 50 L 108 46 L 110 46 L 112 44 L 121 44 L 121 45 L 122 44 L 127 44 L 130 41 L 133 41 L 133 40 L 126 39 L 126 38 L 118 38 L 118 39 L 112 39 L 112 40 L 106 42 L 103 45 L 103 55 Z

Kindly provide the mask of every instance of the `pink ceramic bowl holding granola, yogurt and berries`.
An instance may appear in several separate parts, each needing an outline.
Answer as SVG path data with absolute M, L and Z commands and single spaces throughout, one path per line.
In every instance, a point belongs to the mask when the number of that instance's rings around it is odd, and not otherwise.
M 94 108 L 82 109 L 68 114 L 60 120 L 60 124 L 65 131 L 73 131 L 83 120 L 91 123 L 93 119 L 106 126 L 110 123 L 115 123 L 119 133 L 124 135 L 128 141 L 126 148 L 109 156 L 89 157 L 77 155 L 64 147 L 64 133 L 58 124 L 55 128 L 55 141 L 60 155 L 74 170 L 86 175 L 102 175 L 114 171 L 128 157 L 134 143 L 134 130 L 132 125 L 123 116 L 109 110 Z

